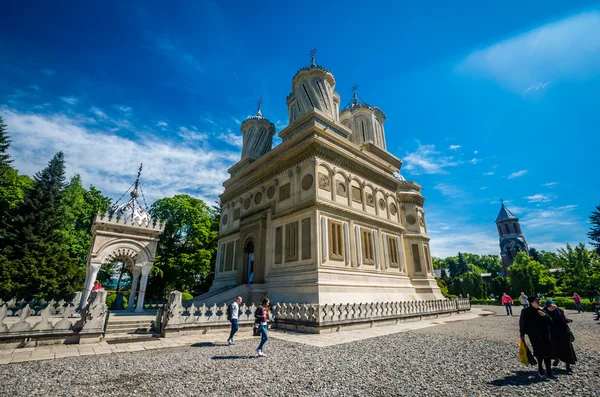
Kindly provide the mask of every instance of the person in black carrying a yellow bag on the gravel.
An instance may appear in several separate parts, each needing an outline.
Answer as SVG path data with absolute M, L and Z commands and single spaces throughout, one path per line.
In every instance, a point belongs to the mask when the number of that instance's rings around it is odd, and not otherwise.
M 550 339 L 550 325 L 552 320 L 540 307 L 540 299 L 537 296 L 527 298 L 529 306 L 521 310 L 519 318 L 519 333 L 521 342 L 525 343 L 525 335 L 529 336 L 533 355 L 538 362 L 538 373 L 544 376 L 542 364 L 546 366 L 546 376 L 551 379 L 556 379 L 552 374 L 550 361 L 552 360 L 553 349 L 552 340 Z

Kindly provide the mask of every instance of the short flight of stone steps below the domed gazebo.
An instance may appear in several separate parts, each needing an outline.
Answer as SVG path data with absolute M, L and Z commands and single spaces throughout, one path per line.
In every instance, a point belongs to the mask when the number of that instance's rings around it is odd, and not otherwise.
M 152 331 L 156 311 L 140 314 L 130 312 L 111 312 L 104 333 L 108 343 L 132 342 L 133 340 L 152 340 L 159 334 Z

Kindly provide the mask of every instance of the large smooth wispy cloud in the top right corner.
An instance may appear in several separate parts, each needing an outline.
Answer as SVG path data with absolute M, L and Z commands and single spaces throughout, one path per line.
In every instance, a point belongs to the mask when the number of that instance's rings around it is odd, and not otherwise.
M 596 75 L 600 71 L 600 12 L 550 22 L 475 51 L 457 70 L 517 92 L 545 88 L 549 81 Z

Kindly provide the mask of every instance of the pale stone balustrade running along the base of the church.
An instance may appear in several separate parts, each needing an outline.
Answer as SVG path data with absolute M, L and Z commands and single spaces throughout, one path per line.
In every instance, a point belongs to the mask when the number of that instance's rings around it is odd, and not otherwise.
M 357 323 L 396 322 L 409 318 L 435 317 L 470 309 L 468 299 L 445 299 L 407 302 L 377 302 L 354 304 L 289 304 L 272 305 L 270 317 L 275 328 L 288 328 L 304 332 L 320 332 L 330 327 L 339 327 Z M 240 306 L 238 323 L 254 323 L 254 304 Z M 182 331 L 225 328 L 227 305 L 191 306 L 185 308 L 181 302 L 181 292 L 173 291 L 169 302 L 161 315 L 162 335 Z

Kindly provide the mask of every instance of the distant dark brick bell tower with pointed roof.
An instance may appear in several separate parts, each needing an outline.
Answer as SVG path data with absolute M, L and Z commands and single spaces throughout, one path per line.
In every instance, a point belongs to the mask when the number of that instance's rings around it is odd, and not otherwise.
M 529 252 L 527 241 L 521 231 L 521 224 L 512 212 L 502 203 L 500 213 L 496 218 L 498 235 L 500 236 L 500 255 L 502 256 L 502 270 L 508 274 L 508 267 L 512 265 L 517 253 Z

